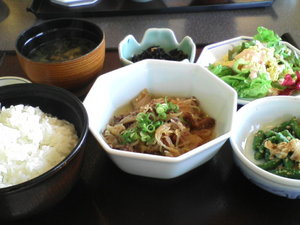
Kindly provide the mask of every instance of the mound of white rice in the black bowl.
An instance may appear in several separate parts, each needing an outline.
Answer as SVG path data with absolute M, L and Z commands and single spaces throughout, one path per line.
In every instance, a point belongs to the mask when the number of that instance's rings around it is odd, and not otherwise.
M 53 168 L 75 147 L 73 124 L 16 105 L 0 112 L 0 188 L 30 180 Z

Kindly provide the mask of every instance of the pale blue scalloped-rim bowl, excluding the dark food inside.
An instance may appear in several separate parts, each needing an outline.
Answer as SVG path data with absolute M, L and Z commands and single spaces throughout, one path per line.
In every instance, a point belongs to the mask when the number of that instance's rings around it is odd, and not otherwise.
M 133 35 L 127 35 L 118 46 L 119 58 L 123 65 L 129 65 L 134 55 L 142 53 L 149 47 L 159 46 L 166 52 L 173 49 L 182 50 L 188 55 L 188 61 L 193 63 L 196 56 L 196 45 L 192 38 L 185 36 L 178 43 L 174 32 L 169 28 L 149 28 L 144 33 L 142 41 L 139 43 Z

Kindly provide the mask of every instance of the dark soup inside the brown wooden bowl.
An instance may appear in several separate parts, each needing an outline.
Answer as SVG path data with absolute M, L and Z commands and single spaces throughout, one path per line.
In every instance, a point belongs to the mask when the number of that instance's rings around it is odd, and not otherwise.
M 97 44 L 84 38 L 62 38 L 43 43 L 34 48 L 28 58 L 38 62 L 62 62 L 87 54 Z

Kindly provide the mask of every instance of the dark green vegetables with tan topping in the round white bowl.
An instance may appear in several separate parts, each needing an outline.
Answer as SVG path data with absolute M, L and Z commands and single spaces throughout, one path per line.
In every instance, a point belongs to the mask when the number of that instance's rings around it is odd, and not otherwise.
M 264 170 L 279 176 L 300 179 L 300 123 L 293 117 L 271 130 L 255 133 L 254 158 Z

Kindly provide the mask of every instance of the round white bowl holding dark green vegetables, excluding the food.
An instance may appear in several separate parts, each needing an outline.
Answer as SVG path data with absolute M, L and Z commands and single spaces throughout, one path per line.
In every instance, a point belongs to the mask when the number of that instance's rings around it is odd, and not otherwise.
M 300 198 L 300 180 L 274 175 L 256 165 L 253 157 L 253 134 L 261 127 L 300 118 L 300 98 L 295 96 L 271 96 L 254 100 L 243 106 L 236 114 L 230 137 L 234 159 L 243 174 L 258 187 L 295 199 Z

